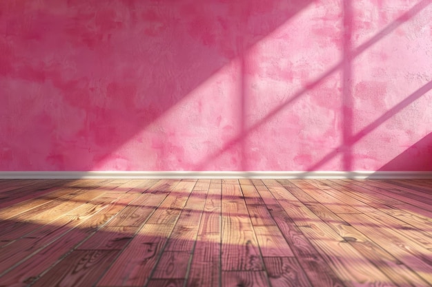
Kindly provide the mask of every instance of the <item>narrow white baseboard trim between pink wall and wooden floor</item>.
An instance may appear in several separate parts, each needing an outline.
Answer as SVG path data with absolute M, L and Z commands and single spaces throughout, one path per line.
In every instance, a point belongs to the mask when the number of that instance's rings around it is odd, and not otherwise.
M 432 178 L 432 171 L 0 171 L 0 179 L 79 178 Z

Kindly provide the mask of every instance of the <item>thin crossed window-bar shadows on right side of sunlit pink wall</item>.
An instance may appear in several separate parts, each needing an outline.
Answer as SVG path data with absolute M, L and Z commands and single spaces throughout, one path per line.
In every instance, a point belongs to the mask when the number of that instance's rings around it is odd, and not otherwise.
M 206 167 L 207 162 L 211 162 L 221 156 L 226 151 L 232 149 L 236 145 L 242 145 L 244 147 L 244 140 L 248 137 L 249 134 L 251 134 L 253 131 L 256 131 L 259 129 L 259 127 L 262 127 L 262 125 L 265 125 L 268 123 L 268 121 L 275 118 L 278 114 L 280 114 L 284 109 L 295 103 L 296 100 L 301 98 L 308 92 L 308 90 L 313 89 L 314 87 L 319 86 L 321 83 L 323 83 L 326 78 L 334 74 L 335 72 L 342 71 L 342 81 L 343 81 L 343 87 L 342 87 L 342 118 L 344 120 L 344 125 L 342 128 L 342 144 L 331 151 L 331 153 L 328 153 L 326 156 L 324 156 L 321 160 L 317 161 L 315 164 L 312 164 L 311 167 L 307 169 L 307 171 L 315 171 L 322 167 L 326 162 L 329 160 L 335 158 L 336 156 L 343 154 L 343 160 L 344 160 L 344 167 L 346 171 L 350 171 L 352 167 L 352 155 L 351 155 L 351 147 L 361 140 L 364 136 L 369 134 L 371 131 L 379 127 L 382 123 L 384 123 L 386 120 L 389 120 L 392 116 L 397 114 L 399 111 L 404 109 L 404 107 L 407 107 L 413 101 L 417 100 L 429 90 L 432 89 L 432 82 L 426 83 L 419 89 L 417 89 L 415 92 L 407 96 L 402 102 L 395 105 L 392 109 L 389 109 L 389 111 L 386 111 L 386 113 L 382 114 L 380 118 L 377 118 L 377 120 L 373 121 L 370 125 L 364 127 L 361 131 L 357 132 L 356 134 L 352 134 L 352 125 L 353 125 L 353 111 L 350 110 L 352 107 L 352 94 L 351 94 L 351 76 L 352 76 L 352 61 L 357 56 L 360 56 L 360 54 L 364 53 L 366 50 L 368 50 L 370 47 L 375 45 L 375 43 L 379 42 L 381 39 L 384 39 L 385 36 L 391 34 L 395 29 L 397 29 L 400 25 L 403 23 L 406 23 L 407 21 L 410 21 L 420 13 L 422 10 L 424 10 L 427 6 L 429 6 L 431 2 L 429 0 L 423 0 L 415 4 L 413 8 L 407 10 L 404 12 L 400 17 L 397 17 L 393 22 L 391 22 L 389 25 L 387 25 L 384 29 L 382 29 L 380 32 L 377 32 L 374 36 L 371 37 L 368 41 L 363 43 L 362 45 L 359 45 L 356 48 L 351 47 L 351 40 L 348 39 L 349 36 L 351 36 L 352 28 L 351 28 L 351 2 L 350 1 L 344 1 L 344 51 L 342 60 L 337 63 L 335 66 L 329 68 L 316 78 L 314 81 L 310 81 L 307 83 L 304 88 L 300 89 L 299 91 L 295 92 L 293 96 L 291 96 L 288 100 L 286 100 L 284 103 L 277 105 L 274 109 L 269 111 L 266 116 L 261 118 L 260 120 L 257 120 L 257 122 L 249 125 L 246 127 L 245 123 L 242 123 L 242 132 L 239 133 L 235 138 L 232 140 L 229 140 L 226 142 L 226 144 L 222 147 L 222 149 L 219 149 L 216 153 L 211 154 L 210 156 L 207 156 L 204 158 L 204 160 L 201 160 L 199 164 L 196 165 L 195 170 L 202 170 Z M 244 75 L 243 75 L 244 76 Z M 242 159 L 244 160 L 244 159 Z M 242 164 L 244 167 L 245 165 Z

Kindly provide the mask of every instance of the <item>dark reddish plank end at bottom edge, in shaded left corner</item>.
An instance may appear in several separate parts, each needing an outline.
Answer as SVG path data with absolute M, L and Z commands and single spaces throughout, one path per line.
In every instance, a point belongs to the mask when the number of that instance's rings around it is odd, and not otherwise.
M 73 251 L 32 286 L 94 286 L 119 251 Z

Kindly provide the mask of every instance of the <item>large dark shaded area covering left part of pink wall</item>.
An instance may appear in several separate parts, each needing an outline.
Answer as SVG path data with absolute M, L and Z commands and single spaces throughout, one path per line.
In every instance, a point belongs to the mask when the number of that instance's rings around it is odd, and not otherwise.
M 2 2 L 1 169 L 92 170 L 313 0 Z

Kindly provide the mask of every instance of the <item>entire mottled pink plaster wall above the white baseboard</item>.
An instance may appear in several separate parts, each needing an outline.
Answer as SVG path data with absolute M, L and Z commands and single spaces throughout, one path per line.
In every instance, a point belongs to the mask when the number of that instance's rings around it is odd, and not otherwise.
M 431 171 L 431 19 L 431 0 L 1 0 L 0 170 Z

